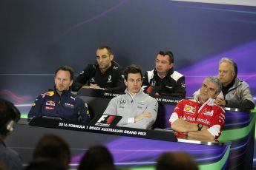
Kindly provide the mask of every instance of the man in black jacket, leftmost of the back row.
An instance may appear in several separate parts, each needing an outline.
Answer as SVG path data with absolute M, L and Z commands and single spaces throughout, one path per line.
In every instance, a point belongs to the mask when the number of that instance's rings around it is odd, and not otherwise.
M 88 64 L 88 67 L 79 74 L 72 85 L 72 91 L 91 88 L 123 92 L 125 84 L 122 80 L 121 67 L 113 59 L 110 47 L 99 47 L 96 50 L 96 64 Z

